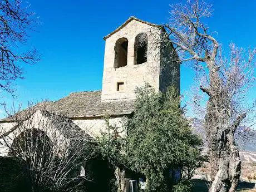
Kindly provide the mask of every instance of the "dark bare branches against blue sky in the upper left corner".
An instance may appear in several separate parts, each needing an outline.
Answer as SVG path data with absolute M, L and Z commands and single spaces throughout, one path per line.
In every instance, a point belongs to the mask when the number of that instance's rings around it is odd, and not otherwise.
M 29 4 L 21 0 L 0 1 L 0 88 L 13 93 L 13 81 L 22 78 L 20 63 L 35 63 L 35 48 L 25 50 L 29 31 L 35 31 L 37 18 Z

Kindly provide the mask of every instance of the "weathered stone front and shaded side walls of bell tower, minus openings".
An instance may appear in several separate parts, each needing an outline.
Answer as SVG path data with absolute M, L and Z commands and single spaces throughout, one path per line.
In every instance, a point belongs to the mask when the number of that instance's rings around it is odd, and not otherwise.
M 149 83 L 156 91 L 164 91 L 170 85 L 180 89 L 180 66 L 170 63 L 172 47 L 160 45 L 160 35 L 164 28 L 157 24 L 141 21 L 130 17 L 122 26 L 106 36 L 104 73 L 102 80 L 102 101 L 135 99 L 136 87 Z M 136 65 L 137 35 L 147 35 L 147 61 Z M 128 41 L 127 65 L 116 68 L 116 43 L 119 40 Z M 162 43 L 163 44 L 163 43 Z M 117 83 L 124 82 L 124 90 L 117 90 Z

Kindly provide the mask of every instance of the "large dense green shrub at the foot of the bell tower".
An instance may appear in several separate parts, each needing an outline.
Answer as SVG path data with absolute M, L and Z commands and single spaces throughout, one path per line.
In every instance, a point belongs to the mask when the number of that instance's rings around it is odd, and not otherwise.
M 170 191 L 177 182 L 171 170 L 190 179 L 204 161 L 199 150 L 202 141 L 192 134 L 174 87 L 166 93 L 148 85 L 137 88 L 134 114 L 122 122 L 123 129 L 110 124 L 109 118 L 106 125 L 107 131 L 99 137 L 102 155 L 119 168 L 145 175 L 146 191 Z

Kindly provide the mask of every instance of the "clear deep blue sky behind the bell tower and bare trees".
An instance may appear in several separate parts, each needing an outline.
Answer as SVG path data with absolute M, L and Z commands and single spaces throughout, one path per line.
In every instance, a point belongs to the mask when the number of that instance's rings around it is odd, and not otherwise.
M 169 4 L 179 1 L 57 1 L 29 0 L 42 24 L 29 43 L 41 53 L 36 65 L 23 65 L 25 80 L 17 80 L 17 98 L 4 94 L 8 106 L 42 99 L 58 100 L 71 92 L 100 90 L 105 42 L 103 37 L 130 16 L 165 23 Z M 213 2 L 213 1 L 211 1 Z M 211 31 L 227 48 L 230 42 L 256 46 L 256 1 L 214 1 L 208 20 Z M 189 90 L 193 71 L 181 67 L 181 91 Z M 255 95 L 256 90 L 252 93 Z M 4 114 L 0 111 L 0 117 Z

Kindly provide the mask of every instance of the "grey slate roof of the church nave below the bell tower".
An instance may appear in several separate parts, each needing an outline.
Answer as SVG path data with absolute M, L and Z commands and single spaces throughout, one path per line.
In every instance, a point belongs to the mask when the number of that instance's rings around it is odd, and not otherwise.
M 71 119 L 102 117 L 104 115 L 129 115 L 134 111 L 135 100 L 101 101 L 101 91 L 73 92 L 54 102 L 41 102 L 33 107 L 36 110 L 55 113 L 62 110 Z M 18 113 L 26 116 L 26 110 Z M 0 122 L 13 121 L 7 117 Z

